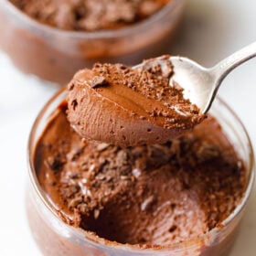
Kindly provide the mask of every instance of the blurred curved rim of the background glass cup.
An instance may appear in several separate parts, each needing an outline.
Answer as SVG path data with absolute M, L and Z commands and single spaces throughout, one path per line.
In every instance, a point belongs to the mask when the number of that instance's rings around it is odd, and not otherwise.
M 35 29 L 40 30 L 44 33 L 49 33 L 52 35 L 59 35 L 62 37 L 69 37 L 74 39 L 85 39 L 85 38 L 112 38 L 112 37 L 124 37 L 134 34 L 134 31 L 143 29 L 144 27 L 155 24 L 158 20 L 161 20 L 162 16 L 166 16 L 169 12 L 172 12 L 176 9 L 178 5 L 185 5 L 186 0 L 170 0 L 170 2 L 157 11 L 154 15 L 145 18 L 144 20 L 135 23 L 131 26 L 122 27 L 119 29 L 109 29 L 109 30 L 100 30 L 100 31 L 69 31 L 60 29 L 58 27 L 51 27 L 43 23 L 38 22 L 36 19 L 27 16 L 24 12 L 16 7 L 9 0 L 0 1 L 1 5 L 14 16 L 19 17 L 25 25 Z

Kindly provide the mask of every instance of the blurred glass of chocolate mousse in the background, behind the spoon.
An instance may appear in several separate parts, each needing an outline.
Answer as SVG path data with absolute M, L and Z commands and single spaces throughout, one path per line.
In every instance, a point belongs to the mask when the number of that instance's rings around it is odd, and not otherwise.
M 169 51 L 185 0 L 2 0 L 0 48 L 16 67 L 66 84 L 98 61 L 129 65 Z

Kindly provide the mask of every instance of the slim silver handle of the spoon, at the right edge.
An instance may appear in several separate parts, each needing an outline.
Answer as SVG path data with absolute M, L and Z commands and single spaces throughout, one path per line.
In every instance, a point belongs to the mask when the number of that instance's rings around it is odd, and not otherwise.
M 221 81 L 229 74 L 229 72 L 256 56 L 256 42 L 251 45 L 241 48 L 237 52 L 230 55 L 228 58 L 221 60 L 211 71 L 217 78 L 216 86 L 219 87 Z

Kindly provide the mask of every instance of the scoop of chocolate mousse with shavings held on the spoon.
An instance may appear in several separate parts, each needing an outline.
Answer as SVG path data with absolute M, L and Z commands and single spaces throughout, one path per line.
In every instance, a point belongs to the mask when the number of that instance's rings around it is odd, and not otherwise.
M 154 60 L 154 61 L 152 61 Z M 68 119 L 81 137 L 109 144 L 164 144 L 191 130 L 206 115 L 170 85 L 169 56 L 140 68 L 95 64 L 69 83 Z

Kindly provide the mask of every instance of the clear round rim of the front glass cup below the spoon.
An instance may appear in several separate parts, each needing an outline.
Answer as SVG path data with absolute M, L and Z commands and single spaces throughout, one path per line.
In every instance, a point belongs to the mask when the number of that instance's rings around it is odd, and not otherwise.
M 251 139 L 250 136 L 247 132 L 247 130 L 245 129 L 245 126 L 243 125 L 243 123 L 241 123 L 240 118 L 238 117 L 238 115 L 232 111 L 232 109 L 230 109 L 229 105 L 221 100 L 219 98 L 219 96 L 217 96 L 215 101 L 219 101 L 219 103 L 224 106 L 224 108 L 226 108 L 226 110 L 228 110 L 228 112 L 231 114 L 231 116 L 235 119 L 235 121 L 240 125 L 240 128 L 242 129 L 246 139 L 247 139 L 247 143 L 249 146 L 249 152 L 250 152 L 250 163 L 248 165 L 248 171 L 249 171 L 249 176 L 248 176 L 248 183 L 247 183 L 247 187 L 244 191 L 244 196 L 241 199 L 241 202 L 239 204 L 239 206 L 237 206 L 234 211 L 229 215 L 229 217 L 227 219 L 224 219 L 220 225 L 219 228 L 214 228 L 209 230 L 206 234 L 203 234 L 197 238 L 194 239 L 190 239 L 190 240 L 185 240 L 183 242 L 176 242 L 174 244 L 171 245 L 166 245 L 166 246 L 147 246 L 146 248 L 140 247 L 140 245 L 137 244 L 123 244 L 123 243 L 119 243 L 116 241 L 111 241 L 111 240 L 106 240 L 103 239 L 101 237 L 98 237 L 97 235 L 92 235 L 90 232 L 80 229 L 80 228 L 74 228 L 68 224 L 66 224 L 65 222 L 63 222 L 61 219 L 59 219 L 59 216 L 56 212 L 56 210 L 53 208 L 53 206 L 51 206 L 48 203 L 48 199 L 46 197 L 45 192 L 43 191 L 43 189 L 40 187 L 39 182 L 37 180 L 37 174 L 36 174 L 36 170 L 34 167 L 34 162 L 33 162 L 33 156 L 34 156 L 34 148 L 33 148 L 33 140 L 35 137 L 35 134 L 37 132 L 37 127 L 38 124 L 41 122 L 42 117 L 46 114 L 46 112 L 48 111 L 48 107 L 51 106 L 55 101 L 56 103 L 56 107 L 59 106 L 59 104 L 61 103 L 62 100 L 65 100 L 65 96 L 66 96 L 66 89 L 62 88 L 61 90 L 59 90 L 48 102 L 47 104 L 43 107 L 43 109 L 38 113 L 37 118 L 35 120 L 35 122 L 33 123 L 31 132 L 29 134 L 29 138 L 28 138 L 28 144 L 27 144 L 27 163 L 28 163 L 28 172 L 29 172 L 29 177 L 30 177 L 30 182 L 32 183 L 32 187 L 35 189 L 36 193 L 37 193 L 37 197 L 39 197 L 39 199 L 41 200 L 41 202 L 43 202 L 43 205 L 48 208 L 48 210 L 51 212 L 52 216 L 56 219 L 58 219 L 59 221 L 61 221 L 61 223 L 67 228 L 69 229 L 70 232 L 73 232 L 74 235 L 80 236 L 80 239 L 88 239 L 92 244 L 95 244 L 95 246 L 102 246 L 105 248 L 119 248 L 120 250 L 129 250 L 131 252 L 146 252 L 146 251 L 169 251 L 169 250 L 178 250 L 178 249 L 182 249 L 182 248 L 193 248 L 194 246 L 197 246 L 198 244 L 202 245 L 202 241 L 204 240 L 208 240 L 208 238 L 210 237 L 215 237 L 217 236 L 221 230 L 222 227 L 225 227 L 229 224 L 229 222 L 231 222 L 232 219 L 235 219 L 235 217 L 240 213 L 240 211 L 245 207 L 248 198 L 251 195 L 251 190 L 253 187 L 253 183 L 254 183 L 254 177 L 255 177 L 255 159 L 254 159 L 254 154 L 253 154 L 253 148 L 252 148 L 252 144 L 251 144 Z M 48 118 L 50 117 L 50 114 L 52 112 L 48 112 Z M 37 142 L 36 142 L 37 144 Z

